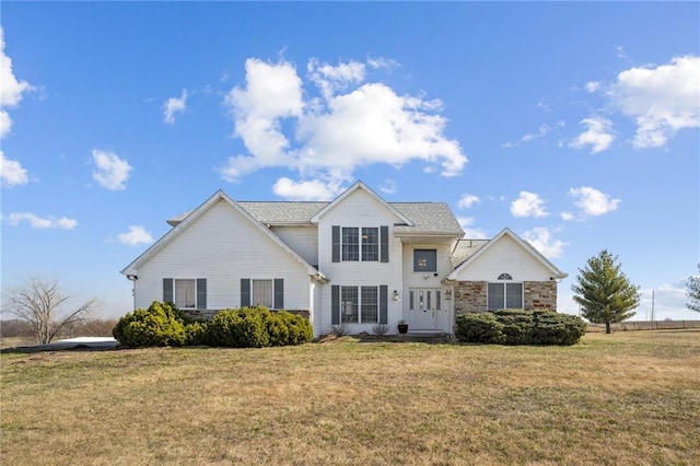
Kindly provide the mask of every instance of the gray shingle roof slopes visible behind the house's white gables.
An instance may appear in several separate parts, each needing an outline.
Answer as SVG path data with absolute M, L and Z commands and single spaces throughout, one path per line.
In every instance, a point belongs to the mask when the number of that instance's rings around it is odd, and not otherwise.
M 303 224 L 329 202 L 301 201 L 237 201 L 256 220 L 265 224 Z M 464 234 L 459 222 L 445 202 L 388 202 L 394 209 L 409 219 L 413 225 L 397 225 L 394 231 L 399 234 Z M 175 226 L 191 210 L 167 221 Z

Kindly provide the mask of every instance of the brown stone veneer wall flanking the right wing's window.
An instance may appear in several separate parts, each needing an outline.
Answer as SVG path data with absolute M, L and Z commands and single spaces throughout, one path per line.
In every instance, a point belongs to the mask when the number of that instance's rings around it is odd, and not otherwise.
M 455 282 L 455 316 L 465 312 L 485 312 L 487 310 L 488 282 Z M 557 311 L 557 282 L 526 281 L 523 283 L 526 310 L 548 308 Z

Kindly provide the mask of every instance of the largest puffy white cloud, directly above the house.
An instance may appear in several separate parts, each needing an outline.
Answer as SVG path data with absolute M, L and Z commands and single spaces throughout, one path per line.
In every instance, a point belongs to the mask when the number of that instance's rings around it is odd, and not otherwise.
M 366 66 L 355 61 L 334 67 L 311 60 L 307 70 L 320 96 L 302 92 L 292 63 L 246 61 L 246 88 L 234 88 L 225 104 L 249 154 L 230 158 L 221 168 L 224 179 L 283 166 L 299 171 L 302 180 L 295 186 L 332 187 L 352 179 L 355 168 L 376 163 L 419 160 L 430 167 L 440 164 L 443 176 L 466 165 L 459 143 L 444 136 L 447 120 L 438 114 L 440 101 L 364 83 Z

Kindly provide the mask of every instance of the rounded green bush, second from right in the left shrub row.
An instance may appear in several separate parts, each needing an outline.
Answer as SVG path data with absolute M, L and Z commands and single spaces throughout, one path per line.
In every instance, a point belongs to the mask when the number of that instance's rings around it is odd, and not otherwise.
M 207 341 L 214 347 L 261 348 L 270 342 L 264 307 L 221 311 L 207 326 Z

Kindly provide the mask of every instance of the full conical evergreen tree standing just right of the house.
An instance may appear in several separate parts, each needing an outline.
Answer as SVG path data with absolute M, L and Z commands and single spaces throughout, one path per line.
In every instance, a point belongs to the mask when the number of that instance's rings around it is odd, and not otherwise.
M 594 324 L 605 324 L 606 334 L 610 333 L 610 324 L 632 317 L 635 314 L 632 310 L 639 305 L 639 287 L 630 283 L 621 267 L 617 256 L 603 249 L 579 269 L 579 283 L 571 286 L 583 316 Z

